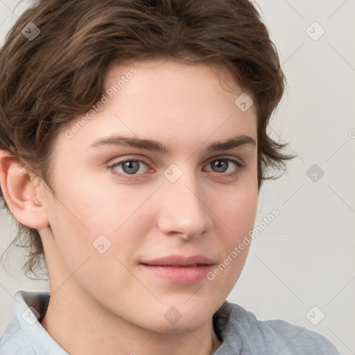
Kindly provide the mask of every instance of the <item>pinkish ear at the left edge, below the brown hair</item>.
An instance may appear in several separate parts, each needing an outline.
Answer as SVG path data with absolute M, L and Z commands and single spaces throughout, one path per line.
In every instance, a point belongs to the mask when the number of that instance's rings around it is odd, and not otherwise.
M 36 230 L 49 225 L 46 203 L 40 196 L 24 164 L 5 150 L 0 150 L 0 186 L 3 198 L 15 218 Z

